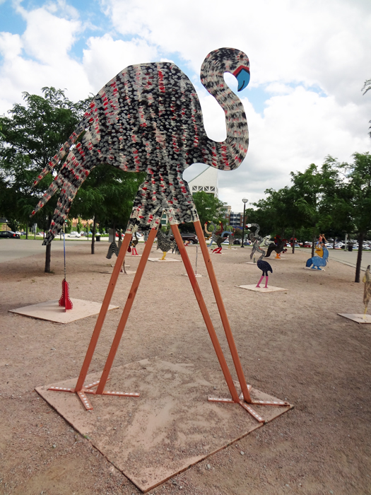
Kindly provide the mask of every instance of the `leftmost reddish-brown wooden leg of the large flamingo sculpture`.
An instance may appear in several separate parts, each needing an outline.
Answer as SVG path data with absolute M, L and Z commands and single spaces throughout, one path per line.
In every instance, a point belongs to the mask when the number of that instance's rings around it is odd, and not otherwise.
M 100 330 L 102 330 L 102 325 L 103 322 L 105 321 L 105 316 L 107 315 L 108 307 L 110 306 L 114 287 L 116 286 L 117 279 L 119 278 L 119 273 L 122 268 L 122 263 L 124 262 L 124 257 L 126 255 L 127 248 L 129 248 L 130 240 L 131 240 L 131 234 L 129 233 L 125 234 L 124 240 L 119 250 L 119 254 L 117 255 L 116 263 L 114 264 L 114 269 L 110 278 L 110 284 L 108 284 L 107 291 L 105 293 L 105 298 L 103 299 L 102 307 L 100 308 L 100 313 L 98 315 L 97 322 L 95 323 L 93 335 L 91 336 L 90 344 L 88 346 L 88 350 L 86 351 L 86 356 L 83 361 L 83 366 L 81 368 L 80 375 L 78 376 L 75 392 L 80 392 L 83 388 L 83 383 L 86 379 L 86 375 L 88 374 L 91 360 L 93 359 L 93 354 L 98 342 Z

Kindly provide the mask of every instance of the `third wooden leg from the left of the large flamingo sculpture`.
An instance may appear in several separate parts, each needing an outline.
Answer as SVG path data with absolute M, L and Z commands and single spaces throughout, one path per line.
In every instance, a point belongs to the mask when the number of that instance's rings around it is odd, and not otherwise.
M 200 228 L 201 228 L 201 226 L 200 226 Z M 213 323 L 211 322 L 210 315 L 208 314 L 208 310 L 206 308 L 204 298 L 202 297 L 201 290 L 199 288 L 199 284 L 197 284 L 197 279 L 196 279 L 196 276 L 195 276 L 194 271 L 192 269 L 192 264 L 189 261 L 187 250 L 186 250 L 186 248 L 184 248 L 182 236 L 179 233 L 179 228 L 175 224 L 175 225 L 171 226 L 171 229 L 172 229 L 172 233 L 174 234 L 175 240 L 177 241 L 177 246 L 178 246 L 180 255 L 182 256 L 184 267 L 187 270 L 187 274 L 189 276 L 189 281 L 191 282 L 192 289 L 194 290 L 194 295 L 196 296 L 197 302 L 199 303 L 199 308 L 201 310 L 202 316 L 204 317 L 206 328 L 208 330 L 208 334 L 210 335 L 211 342 L 213 343 L 213 347 L 216 351 L 216 356 L 218 357 L 220 367 L 222 368 L 225 381 L 227 382 L 227 385 L 228 385 L 228 388 L 230 391 L 230 395 L 232 396 L 233 402 L 240 403 L 240 399 L 238 397 L 237 390 L 235 388 L 235 384 L 233 383 L 232 376 L 230 375 L 227 361 L 225 361 L 225 357 L 224 357 L 222 348 L 220 347 L 220 343 L 218 341 L 218 337 L 217 337 L 216 332 L 214 330 Z M 201 235 L 204 238 L 204 234 L 202 233 L 202 229 L 201 229 Z M 206 245 L 206 243 L 205 243 L 205 245 Z M 206 247 L 206 250 L 207 250 L 207 247 Z

